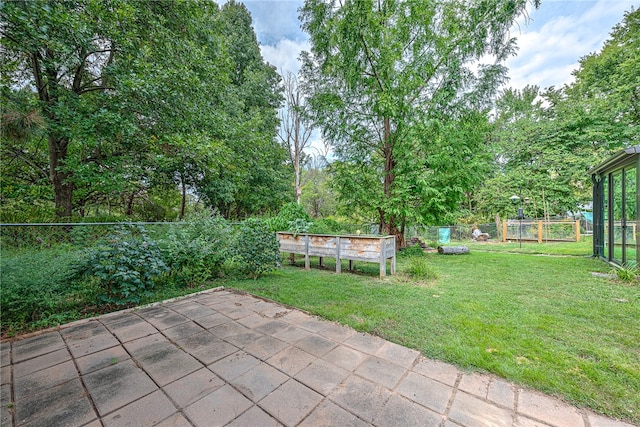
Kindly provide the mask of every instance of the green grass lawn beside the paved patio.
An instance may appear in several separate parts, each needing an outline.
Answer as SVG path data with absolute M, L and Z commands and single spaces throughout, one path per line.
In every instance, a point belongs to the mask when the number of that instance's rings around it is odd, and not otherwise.
M 357 263 L 359 274 L 287 266 L 225 286 L 640 422 L 640 287 L 594 277 L 610 268 L 586 257 L 426 257 L 436 280 L 379 280 L 376 264 Z

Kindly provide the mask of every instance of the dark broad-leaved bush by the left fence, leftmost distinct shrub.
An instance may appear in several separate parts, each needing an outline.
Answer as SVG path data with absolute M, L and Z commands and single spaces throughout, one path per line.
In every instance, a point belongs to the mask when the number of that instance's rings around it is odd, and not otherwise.
M 153 279 L 168 271 L 156 242 L 143 226 L 117 227 L 75 266 L 77 276 L 94 276 L 100 303 L 132 305 L 150 294 Z

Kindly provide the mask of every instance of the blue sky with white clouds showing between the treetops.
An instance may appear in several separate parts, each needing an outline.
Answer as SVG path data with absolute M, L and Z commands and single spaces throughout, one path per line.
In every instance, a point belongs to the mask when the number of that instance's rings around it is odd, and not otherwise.
M 222 2 L 222 1 L 220 1 Z M 262 55 L 278 71 L 296 72 L 298 56 L 309 50 L 309 38 L 300 29 L 301 0 L 244 0 L 251 12 Z M 625 11 L 640 0 L 542 0 L 512 28 L 518 54 L 509 59 L 509 87 L 527 84 L 560 87 L 573 81 L 571 72 L 581 57 L 600 51 Z

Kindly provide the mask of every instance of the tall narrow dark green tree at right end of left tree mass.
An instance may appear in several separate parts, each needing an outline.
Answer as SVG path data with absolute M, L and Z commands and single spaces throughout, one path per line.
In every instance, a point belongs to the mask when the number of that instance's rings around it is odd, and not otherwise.
M 225 94 L 230 122 L 223 123 L 228 163 L 207 170 L 199 191 L 227 217 L 264 213 L 288 201 L 287 153 L 277 141 L 280 76 L 263 60 L 247 8 L 235 1 L 221 9 L 233 85 Z

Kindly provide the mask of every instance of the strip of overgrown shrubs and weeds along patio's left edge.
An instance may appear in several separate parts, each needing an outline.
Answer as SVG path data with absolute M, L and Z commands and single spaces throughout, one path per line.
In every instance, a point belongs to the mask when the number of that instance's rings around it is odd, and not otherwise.
M 206 211 L 151 230 L 76 226 L 53 234 L 47 245 L 3 248 L 3 335 L 182 295 L 223 276 L 255 279 L 280 265 L 264 221 L 233 228 Z

